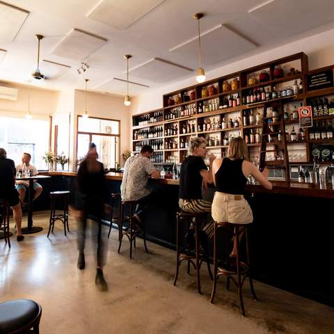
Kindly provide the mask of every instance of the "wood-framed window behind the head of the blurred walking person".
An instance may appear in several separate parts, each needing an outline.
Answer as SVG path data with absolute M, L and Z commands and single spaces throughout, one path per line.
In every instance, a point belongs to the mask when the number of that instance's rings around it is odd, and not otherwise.
M 77 159 L 88 151 L 89 143 L 95 143 L 99 161 L 105 168 L 116 168 L 120 163 L 120 121 L 78 116 Z

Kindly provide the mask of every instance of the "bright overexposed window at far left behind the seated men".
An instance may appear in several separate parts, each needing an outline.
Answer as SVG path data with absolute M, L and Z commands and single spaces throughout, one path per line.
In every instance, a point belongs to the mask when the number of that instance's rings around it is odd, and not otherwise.
M 15 164 L 21 162 L 23 152 L 28 152 L 33 166 L 47 169 L 42 157 L 49 151 L 49 120 L 0 117 L 0 148 Z

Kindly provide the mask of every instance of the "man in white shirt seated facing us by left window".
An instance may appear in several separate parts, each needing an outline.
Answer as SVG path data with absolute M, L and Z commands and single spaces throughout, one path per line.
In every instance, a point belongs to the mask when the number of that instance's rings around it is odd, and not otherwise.
M 16 166 L 16 173 L 18 173 L 20 170 L 22 170 L 23 164 L 26 164 L 26 170 L 30 171 L 30 176 L 38 175 L 38 170 L 35 168 L 35 166 L 30 164 L 31 161 L 31 154 L 24 152 L 22 154 L 22 164 L 18 164 Z M 16 182 L 15 186 L 16 190 L 19 193 L 19 200 L 21 201 L 22 205 L 24 203 L 24 198 L 26 197 L 26 189 L 29 188 L 29 182 L 19 180 Z M 38 198 L 40 196 L 40 193 L 42 193 L 42 186 L 36 182 L 36 180 L 33 180 L 33 200 Z

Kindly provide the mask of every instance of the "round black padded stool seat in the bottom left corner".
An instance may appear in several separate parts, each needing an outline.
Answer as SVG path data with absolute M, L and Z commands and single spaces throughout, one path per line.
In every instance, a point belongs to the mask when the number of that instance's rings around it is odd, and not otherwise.
M 41 312 L 40 305 L 28 299 L 0 303 L 0 333 L 29 330 L 39 322 Z

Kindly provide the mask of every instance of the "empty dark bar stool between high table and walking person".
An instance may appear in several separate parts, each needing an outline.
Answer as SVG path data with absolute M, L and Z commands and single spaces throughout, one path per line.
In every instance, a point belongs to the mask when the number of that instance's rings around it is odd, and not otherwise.
M 70 228 L 68 228 L 68 196 L 70 195 L 70 191 L 51 191 L 51 211 L 50 211 L 50 223 L 49 223 L 49 232 L 47 232 L 47 237 L 49 237 L 50 230 L 52 228 L 52 233 L 54 232 L 54 223 L 56 221 L 61 221 L 64 225 L 64 233 L 66 237 L 66 226 L 67 231 L 70 232 Z M 56 202 L 57 200 L 63 202 L 63 209 L 61 210 L 61 214 L 56 214 Z

